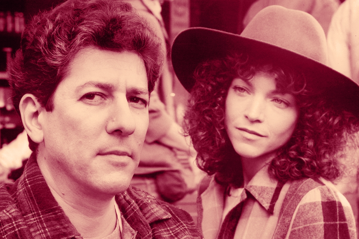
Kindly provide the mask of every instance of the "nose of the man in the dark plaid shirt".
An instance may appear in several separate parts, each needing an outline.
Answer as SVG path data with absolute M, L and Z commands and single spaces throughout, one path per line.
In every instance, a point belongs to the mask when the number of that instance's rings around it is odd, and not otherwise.
M 135 119 L 125 96 L 115 99 L 110 110 L 106 126 L 107 133 L 126 136 L 135 132 Z

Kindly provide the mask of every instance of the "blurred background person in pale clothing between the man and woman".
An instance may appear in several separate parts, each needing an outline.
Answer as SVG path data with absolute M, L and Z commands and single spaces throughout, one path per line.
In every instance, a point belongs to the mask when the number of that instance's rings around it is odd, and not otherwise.
M 168 34 L 158 0 L 123 0 L 130 3 L 153 27 L 161 39 L 163 54 L 168 56 Z M 194 159 L 196 152 L 174 119 L 172 92 L 173 76 L 169 59 L 164 60 L 159 82 L 151 93 L 149 127 L 131 185 L 168 202 L 182 199 L 195 190 Z

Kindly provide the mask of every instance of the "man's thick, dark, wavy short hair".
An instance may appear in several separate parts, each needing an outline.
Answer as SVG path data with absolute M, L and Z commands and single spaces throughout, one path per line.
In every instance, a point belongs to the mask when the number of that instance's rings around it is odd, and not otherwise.
M 13 103 L 33 94 L 47 111 L 68 66 L 83 48 L 136 53 L 144 61 L 151 92 L 164 59 L 161 42 L 145 19 L 121 0 L 68 0 L 34 16 L 22 34 L 21 47 L 10 62 Z M 29 147 L 37 144 L 29 138 Z

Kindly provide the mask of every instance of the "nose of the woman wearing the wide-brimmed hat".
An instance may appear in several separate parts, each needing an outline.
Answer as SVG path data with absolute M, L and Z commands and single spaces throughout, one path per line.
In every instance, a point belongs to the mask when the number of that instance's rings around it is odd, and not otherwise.
M 263 122 L 265 107 L 265 99 L 260 96 L 255 96 L 251 100 L 248 100 L 244 116 L 251 122 Z

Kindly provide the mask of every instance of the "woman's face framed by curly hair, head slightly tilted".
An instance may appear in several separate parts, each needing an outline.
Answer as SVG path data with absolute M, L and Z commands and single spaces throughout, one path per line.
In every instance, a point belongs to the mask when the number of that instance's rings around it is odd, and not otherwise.
M 242 160 L 271 159 L 288 142 L 297 119 L 295 97 L 276 89 L 274 75 L 257 72 L 249 81 L 232 81 L 225 102 L 225 126 Z

